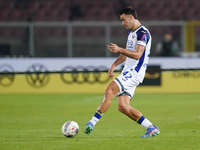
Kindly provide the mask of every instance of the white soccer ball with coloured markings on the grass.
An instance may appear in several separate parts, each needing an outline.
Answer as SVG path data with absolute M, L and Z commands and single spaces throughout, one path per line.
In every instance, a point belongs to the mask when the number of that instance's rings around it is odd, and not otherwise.
M 67 121 L 62 126 L 62 133 L 66 137 L 75 137 L 78 134 L 79 126 L 75 121 Z

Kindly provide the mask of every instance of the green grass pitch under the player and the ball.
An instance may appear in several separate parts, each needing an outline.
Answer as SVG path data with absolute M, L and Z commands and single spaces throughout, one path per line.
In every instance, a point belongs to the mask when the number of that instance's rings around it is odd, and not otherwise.
M 145 128 L 117 110 L 117 100 L 90 135 L 86 123 L 103 94 L 1 94 L 1 150 L 190 150 L 200 149 L 200 94 L 135 94 L 131 105 L 161 131 L 141 139 Z M 74 120 L 79 133 L 66 138 L 64 122 Z

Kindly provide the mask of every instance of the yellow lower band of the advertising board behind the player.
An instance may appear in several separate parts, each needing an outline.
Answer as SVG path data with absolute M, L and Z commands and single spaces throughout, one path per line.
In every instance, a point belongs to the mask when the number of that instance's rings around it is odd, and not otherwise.
M 4 66 L 9 68 L 10 66 Z M 38 66 L 35 66 L 37 68 Z M 40 66 L 41 67 L 41 66 Z M 0 68 L 2 69 L 2 68 Z M 112 81 L 105 68 L 65 67 L 61 71 L 0 72 L 0 94 L 5 93 L 104 93 Z M 120 70 L 114 72 L 114 76 Z M 136 93 L 199 93 L 200 68 L 160 69 L 149 66 Z

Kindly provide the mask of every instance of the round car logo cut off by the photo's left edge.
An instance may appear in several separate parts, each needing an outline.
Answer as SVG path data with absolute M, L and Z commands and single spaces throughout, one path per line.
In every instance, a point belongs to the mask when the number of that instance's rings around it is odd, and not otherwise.
M 11 86 L 14 82 L 14 69 L 9 64 L 2 64 L 0 66 L 0 85 L 3 87 Z

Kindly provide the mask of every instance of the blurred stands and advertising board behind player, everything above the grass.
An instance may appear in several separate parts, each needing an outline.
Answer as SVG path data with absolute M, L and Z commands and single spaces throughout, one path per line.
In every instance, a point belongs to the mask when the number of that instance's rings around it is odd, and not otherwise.
M 200 92 L 199 0 L 0 0 L 0 93 L 102 93 L 119 55 L 107 45 L 126 45 L 119 11 L 128 5 L 152 34 L 149 66 L 158 68 L 138 92 Z M 176 53 L 161 53 L 166 34 Z

